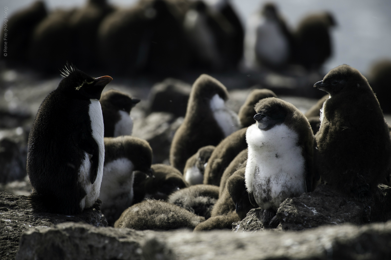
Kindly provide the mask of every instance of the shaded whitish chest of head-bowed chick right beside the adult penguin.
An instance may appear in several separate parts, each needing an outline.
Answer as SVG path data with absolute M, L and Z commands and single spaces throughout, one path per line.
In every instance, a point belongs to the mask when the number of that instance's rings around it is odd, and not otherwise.
M 100 185 L 100 208 L 129 207 L 133 200 L 134 165 L 127 158 L 118 158 L 103 167 L 102 184 Z

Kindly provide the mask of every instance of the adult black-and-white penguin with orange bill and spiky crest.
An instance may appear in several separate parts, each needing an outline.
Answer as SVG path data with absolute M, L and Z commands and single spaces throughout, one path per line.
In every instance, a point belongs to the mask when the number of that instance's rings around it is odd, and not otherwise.
M 109 76 L 93 78 L 67 64 L 57 89 L 31 126 L 27 174 L 34 210 L 77 214 L 99 197 L 104 163 L 99 99 Z

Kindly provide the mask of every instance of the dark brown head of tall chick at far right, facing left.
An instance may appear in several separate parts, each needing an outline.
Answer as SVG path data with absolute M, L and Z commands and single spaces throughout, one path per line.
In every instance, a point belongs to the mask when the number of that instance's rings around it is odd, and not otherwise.
M 326 91 L 330 96 L 345 91 L 362 91 L 368 89 L 368 80 L 357 69 L 343 64 L 330 70 L 323 80 L 314 87 Z

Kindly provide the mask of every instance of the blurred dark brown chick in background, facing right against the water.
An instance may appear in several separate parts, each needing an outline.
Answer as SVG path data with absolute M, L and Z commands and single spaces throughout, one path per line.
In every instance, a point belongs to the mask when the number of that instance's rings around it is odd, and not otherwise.
M 318 70 L 332 55 L 330 28 L 336 25 L 330 12 L 311 14 L 300 21 L 294 37 L 295 61 L 309 70 Z

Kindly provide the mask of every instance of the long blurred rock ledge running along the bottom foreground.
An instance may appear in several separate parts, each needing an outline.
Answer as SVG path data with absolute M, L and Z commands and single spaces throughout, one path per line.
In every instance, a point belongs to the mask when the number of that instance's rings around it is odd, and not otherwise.
M 303 232 L 169 232 L 63 223 L 23 233 L 17 260 L 29 259 L 389 259 L 391 221 Z

